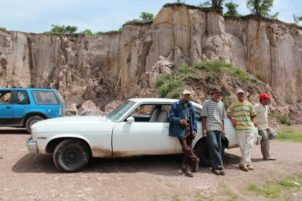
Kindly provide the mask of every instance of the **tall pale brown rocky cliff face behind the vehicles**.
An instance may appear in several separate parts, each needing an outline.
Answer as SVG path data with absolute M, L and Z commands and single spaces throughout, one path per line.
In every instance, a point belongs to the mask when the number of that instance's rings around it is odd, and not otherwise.
M 164 70 L 218 59 L 271 85 L 289 104 L 302 100 L 302 31 L 221 11 L 164 7 L 153 23 L 101 36 L 0 31 L 0 87 L 58 88 L 67 98 L 98 98 L 108 87 L 127 98 Z

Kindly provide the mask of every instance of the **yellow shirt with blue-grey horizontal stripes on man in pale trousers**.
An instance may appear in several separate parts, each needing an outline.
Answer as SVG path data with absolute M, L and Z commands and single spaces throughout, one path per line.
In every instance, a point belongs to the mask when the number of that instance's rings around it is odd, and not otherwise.
M 256 115 L 253 105 L 244 100 L 243 103 L 238 100 L 234 102 L 229 109 L 226 111 L 227 115 L 234 114 L 236 121 L 236 131 L 237 132 L 253 132 L 253 124 L 251 121 L 251 116 Z

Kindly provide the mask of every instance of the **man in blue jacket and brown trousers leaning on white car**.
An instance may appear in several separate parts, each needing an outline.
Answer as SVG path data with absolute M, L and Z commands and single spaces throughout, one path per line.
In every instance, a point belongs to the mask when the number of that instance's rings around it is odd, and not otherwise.
M 189 102 L 191 92 L 184 90 L 181 99 L 175 102 L 169 113 L 170 127 L 169 136 L 178 137 L 179 143 L 184 152 L 182 172 L 188 177 L 193 177 L 189 164 L 193 165 L 193 172 L 198 170 L 199 159 L 192 150 L 192 141 L 197 133 L 197 121 L 193 106 Z

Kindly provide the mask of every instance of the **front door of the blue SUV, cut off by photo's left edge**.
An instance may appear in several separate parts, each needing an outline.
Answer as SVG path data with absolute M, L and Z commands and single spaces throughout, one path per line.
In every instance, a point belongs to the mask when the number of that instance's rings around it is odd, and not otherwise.
M 14 124 L 13 91 L 14 90 L 0 90 L 0 125 Z

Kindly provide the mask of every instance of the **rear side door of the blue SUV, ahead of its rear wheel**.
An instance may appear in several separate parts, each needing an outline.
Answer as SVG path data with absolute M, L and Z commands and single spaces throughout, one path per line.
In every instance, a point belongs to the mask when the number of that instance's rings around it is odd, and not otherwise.
M 14 119 L 21 124 L 24 115 L 30 111 L 30 101 L 26 90 L 15 90 L 14 92 Z

